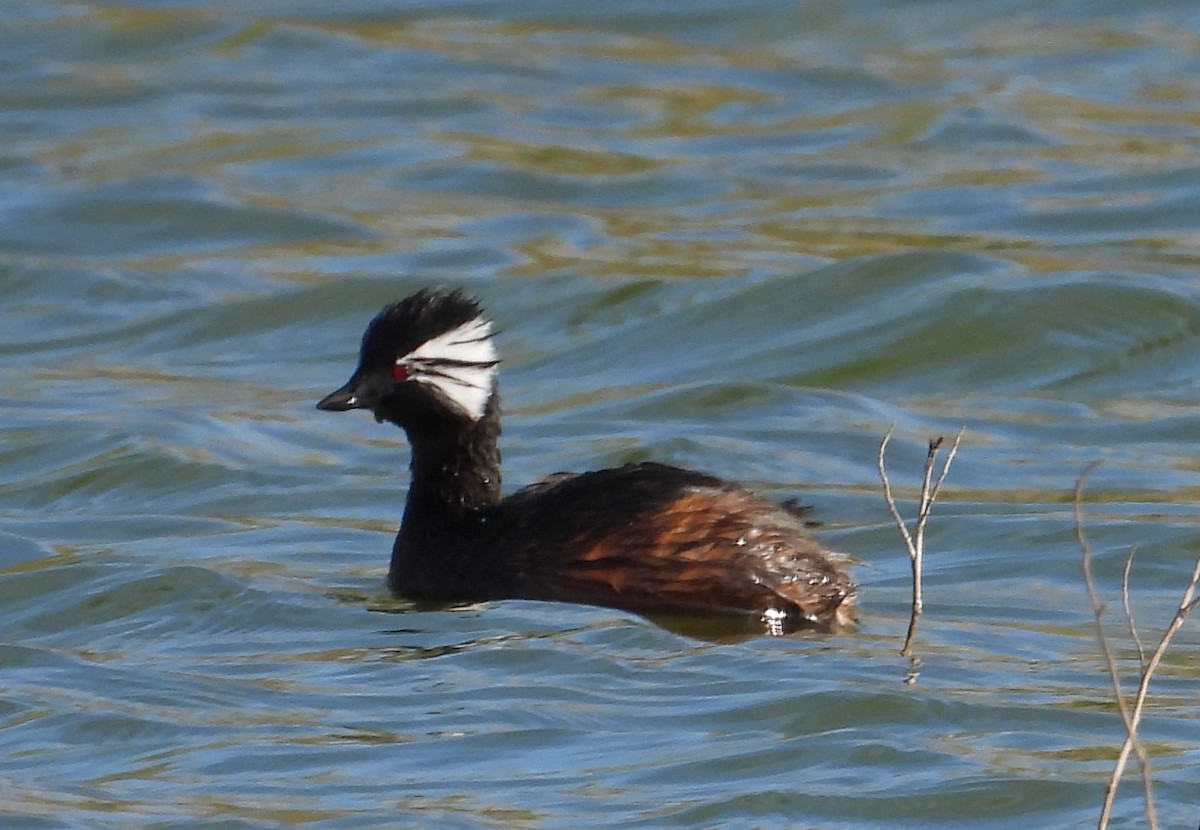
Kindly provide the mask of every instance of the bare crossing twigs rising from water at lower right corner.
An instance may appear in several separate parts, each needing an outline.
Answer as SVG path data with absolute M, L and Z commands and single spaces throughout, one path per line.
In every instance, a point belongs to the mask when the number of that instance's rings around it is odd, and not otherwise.
M 1150 680 L 1153 676 L 1154 670 L 1158 668 L 1159 662 L 1162 662 L 1163 655 L 1166 652 L 1175 632 L 1183 626 L 1188 614 L 1195 611 L 1196 606 L 1200 606 L 1200 600 L 1195 599 L 1196 587 L 1200 584 L 1200 558 L 1196 559 L 1195 566 L 1192 569 L 1192 578 L 1188 581 L 1187 588 L 1183 591 L 1183 599 L 1180 600 L 1175 615 L 1168 624 L 1162 639 L 1158 642 L 1158 646 L 1150 655 L 1148 661 L 1145 658 L 1141 642 L 1138 639 L 1136 626 L 1133 622 L 1133 615 L 1129 613 L 1128 587 L 1133 552 L 1130 552 L 1129 558 L 1126 560 L 1124 577 L 1122 579 L 1122 596 L 1124 601 L 1126 615 L 1129 619 L 1129 627 L 1133 632 L 1135 642 L 1138 643 L 1139 661 L 1141 662 L 1141 680 L 1138 684 L 1138 692 L 1134 694 L 1134 703 L 1130 709 L 1124 699 L 1124 694 L 1121 691 L 1121 675 L 1117 670 L 1116 661 L 1112 657 L 1112 651 L 1109 648 L 1108 637 L 1104 633 L 1104 603 L 1100 602 L 1099 596 L 1096 593 L 1096 581 L 1092 576 L 1092 548 L 1087 541 L 1086 534 L 1084 533 L 1084 485 L 1087 483 L 1087 479 L 1092 474 L 1093 469 L 1096 469 L 1096 463 L 1088 464 L 1080 474 L 1079 480 L 1075 482 L 1075 536 L 1079 540 L 1084 565 L 1084 581 L 1087 584 L 1087 595 L 1092 601 L 1092 612 L 1096 618 L 1097 639 L 1100 644 L 1100 652 L 1104 655 L 1105 663 L 1108 664 L 1109 678 L 1112 681 L 1112 692 L 1116 697 L 1117 711 L 1121 712 L 1121 720 L 1124 722 L 1126 727 L 1124 741 L 1121 744 L 1121 750 L 1117 753 L 1117 762 L 1112 768 L 1112 775 L 1109 777 L 1108 787 L 1105 787 L 1104 790 L 1104 804 L 1100 807 L 1100 818 L 1097 828 L 1098 830 L 1105 830 L 1109 825 L 1109 819 L 1112 814 L 1112 801 L 1116 799 L 1117 794 L 1117 786 L 1121 783 L 1121 776 L 1124 775 L 1124 768 L 1129 760 L 1129 753 L 1134 752 L 1138 756 L 1138 762 L 1141 764 L 1142 788 L 1146 796 L 1146 824 L 1151 828 L 1151 830 L 1157 830 L 1158 819 L 1154 811 L 1153 790 L 1151 788 L 1150 760 L 1146 757 L 1145 747 L 1142 747 L 1141 741 L 1138 738 L 1138 727 L 1141 723 L 1141 715 L 1146 705 L 1146 696 L 1150 693 Z

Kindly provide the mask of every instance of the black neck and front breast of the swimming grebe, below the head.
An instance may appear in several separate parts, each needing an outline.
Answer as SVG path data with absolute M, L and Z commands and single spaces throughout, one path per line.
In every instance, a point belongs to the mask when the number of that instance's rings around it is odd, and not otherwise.
M 451 539 L 469 539 L 482 509 L 500 500 L 499 395 L 492 393 L 479 421 L 456 419 L 425 429 L 406 428 L 413 447 L 404 518 L 391 555 L 392 588 L 420 590 L 422 560 L 443 557 Z M 415 584 L 414 584 L 415 583 Z

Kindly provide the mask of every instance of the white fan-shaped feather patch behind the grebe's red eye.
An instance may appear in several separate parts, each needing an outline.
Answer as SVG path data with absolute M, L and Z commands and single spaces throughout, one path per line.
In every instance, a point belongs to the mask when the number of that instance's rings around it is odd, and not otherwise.
M 413 380 L 436 386 L 472 421 L 484 416 L 496 385 L 492 324 L 481 317 L 432 337 L 396 360 Z

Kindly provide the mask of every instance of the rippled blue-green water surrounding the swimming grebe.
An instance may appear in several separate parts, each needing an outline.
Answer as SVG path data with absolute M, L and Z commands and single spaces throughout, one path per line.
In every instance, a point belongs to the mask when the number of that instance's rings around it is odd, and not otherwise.
M 1200 552 L 1198 78 L 1192 2 L 4 4 L 0 824 L 1094 826 L 1070 495 L 1132 678 L 1126 552 L 1147 640 Z M 402 435 L 312 404 L 432 282 L 503 330 L 510 486 L 800 495 L 860 631 L 390 597 Z M 892 422 L 908 510 L 967 429 L 916 667 Z

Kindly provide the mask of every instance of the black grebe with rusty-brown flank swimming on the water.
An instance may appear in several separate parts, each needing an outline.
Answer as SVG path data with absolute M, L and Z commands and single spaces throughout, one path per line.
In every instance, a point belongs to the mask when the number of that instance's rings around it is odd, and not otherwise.
M 500 497 L 492 324 L 457 290 L 384 308 L 349 381 L 318 409 L 367 409 L 408 435 L 412 482 L 388 584 L 410 599 L 554 600 L 736 614 L 768 633 L 853 622 L 848 559 L 800 510 L 666 464 L 558 473 Z

